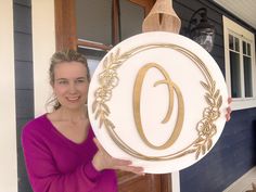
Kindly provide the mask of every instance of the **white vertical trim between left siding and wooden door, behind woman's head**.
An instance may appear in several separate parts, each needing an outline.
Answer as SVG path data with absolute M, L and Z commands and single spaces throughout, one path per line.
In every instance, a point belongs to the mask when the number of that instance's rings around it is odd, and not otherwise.
M 51 94 L 48 69 L 55 51 L 54 0 L 31 0 L 35 115 L 46 113 Z

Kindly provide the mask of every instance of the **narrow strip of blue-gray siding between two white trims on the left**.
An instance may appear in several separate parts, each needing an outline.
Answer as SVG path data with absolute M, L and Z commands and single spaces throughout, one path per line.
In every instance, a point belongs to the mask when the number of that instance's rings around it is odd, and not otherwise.
M 18 191 L 31 192 L 20 139 L 24 124 L 34 118 L 31 3 L 30 0 L 13 3 Z

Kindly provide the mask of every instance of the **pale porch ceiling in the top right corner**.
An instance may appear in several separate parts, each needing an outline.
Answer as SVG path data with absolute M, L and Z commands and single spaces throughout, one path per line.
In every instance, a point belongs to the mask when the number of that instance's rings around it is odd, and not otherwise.
M 214 0 L 256 29 L 256 0 Z

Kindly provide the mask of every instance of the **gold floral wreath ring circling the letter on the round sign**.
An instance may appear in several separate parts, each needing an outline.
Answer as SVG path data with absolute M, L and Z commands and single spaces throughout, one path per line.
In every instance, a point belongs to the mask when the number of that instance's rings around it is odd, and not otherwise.
M 203 111 L 203 118 L 196 125 L 197 138 L 190 145 L 169 155 L 148 156 L 131 149 L 118 137 L 118 135 L 115 132 L 115 125 L 108 119 L 111 110 L 106 105 L 106 102 L 111 100 L 112 90 L 118 85 L 118 67 L 120 67 L 125 61 L 137 53 L 156 48 L 174 49 L 188 56 L 197 65 L 205 77 L 205 81 L 200 82 L 206 90 L 204 98 L 208 105 Z M 123 54 L 120 54 L 120 49 L 117 48 L 115 53 L 111 53 L 104 59 L 103 71 L 99 74 L 99 82 L 100 87 L 94 92 L 95 100 L 92 103 L 92 113 L 95 114 L 95 120 L 99 119 L 100 128 L 102 125 L 104 125 L 113 141 L 123 151 L 130 154 L 131 156 L 145 161 L 168 161 L 195 153 L 195 159 L 197 159 L 201 154 L 204 155 L 206 151 L 209 151 L 213 146 L 212 138 L 217 133 L 217 127 L 214 123 L 220 116 L 219 108 L 222 104 L 222 97 L 220 95 L 219 89 L 216 88 L 216 81 L 213 80 L 213 77 L 206 65 L 191 51 L 171 43 L 144 44 L 124 52 Z

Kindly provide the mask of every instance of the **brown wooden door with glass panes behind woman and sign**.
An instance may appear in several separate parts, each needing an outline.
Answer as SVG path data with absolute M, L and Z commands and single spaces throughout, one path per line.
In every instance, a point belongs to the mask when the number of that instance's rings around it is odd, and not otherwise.
M 56 50 L 75 49 L 94 68 L 116 43 L 140 34 L 155 0 L 55 0 Z M 171 192 L 170 175 L 117 171 L 119 192 Z

